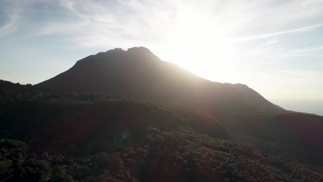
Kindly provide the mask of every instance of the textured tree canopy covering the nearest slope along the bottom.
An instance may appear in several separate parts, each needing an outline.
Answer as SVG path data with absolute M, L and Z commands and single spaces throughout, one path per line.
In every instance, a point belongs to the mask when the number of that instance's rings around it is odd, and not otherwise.
M 187 128 L 169 132 L 150 128 L 132 146 L 88 154 L 35 154 L 12 140 L 1 140 L 0 146 L 1 176 L 14 174 L 15 180 L 323 181 L 320 172 L 280 156 Z

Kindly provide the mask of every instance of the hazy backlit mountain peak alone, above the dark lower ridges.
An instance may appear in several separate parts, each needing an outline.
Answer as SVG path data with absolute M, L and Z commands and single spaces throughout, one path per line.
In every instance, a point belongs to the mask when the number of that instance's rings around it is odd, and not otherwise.
M 217 83 L 161 61 L 147 48 L 108 50 L 91 55 L 40 86 L 64 92 L 121 94 L 136 99 L 188 105 L 209 114 L 279 112 L 247 85 Z

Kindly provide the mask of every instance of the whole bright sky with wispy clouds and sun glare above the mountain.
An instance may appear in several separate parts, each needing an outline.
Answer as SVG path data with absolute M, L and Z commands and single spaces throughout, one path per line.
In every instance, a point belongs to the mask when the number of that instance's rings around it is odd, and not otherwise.
M 266 99 L 323 99 L 322 0 L 0 0 L 0 79 L 135 46 Z

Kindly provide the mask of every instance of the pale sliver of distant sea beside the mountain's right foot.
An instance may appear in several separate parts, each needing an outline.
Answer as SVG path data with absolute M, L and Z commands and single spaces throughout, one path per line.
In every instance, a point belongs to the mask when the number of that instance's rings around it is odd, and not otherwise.
M 271 100 L 286 110 L 306 112 L 323 116 L 323 100 Z

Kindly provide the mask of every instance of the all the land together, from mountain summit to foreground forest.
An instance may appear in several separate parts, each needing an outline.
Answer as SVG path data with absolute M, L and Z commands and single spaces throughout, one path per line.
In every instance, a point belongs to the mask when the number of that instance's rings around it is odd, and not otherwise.
M 146 48 L 0 80 L 0 181 L 323 181 L 323 117 Z M 248 144 L 246 144 L 248 143 Z

